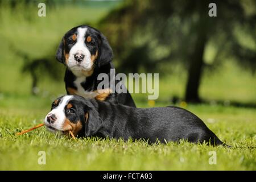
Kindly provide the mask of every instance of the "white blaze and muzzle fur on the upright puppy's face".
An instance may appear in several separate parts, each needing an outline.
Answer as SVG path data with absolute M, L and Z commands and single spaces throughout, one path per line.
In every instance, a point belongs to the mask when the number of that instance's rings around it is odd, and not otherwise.
M 90 71 L 93 66 L 93 63 L 90 60 L 90 51 L 85 45 L 85 34 L 87 30 L 88 28 L 77 28 L 76 43 L 69 51 L 69 59 L 67 65 L 77 77 L 80 77 L 82 69 L 85 71 Z M 76 53 L 84 55 L 84 59 L 81 61 L 81 63 L 78 63 L 75 60 L 74 56 L 76 55 Z

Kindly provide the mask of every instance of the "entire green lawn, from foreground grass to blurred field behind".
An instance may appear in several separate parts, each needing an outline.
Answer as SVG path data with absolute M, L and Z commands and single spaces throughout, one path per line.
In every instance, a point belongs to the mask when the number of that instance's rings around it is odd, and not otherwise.
M 31 96 L 31 78 L 20 72 L 23 60 L 11 48 L 35 58 L 47 55 L 65 31 L 100 19 L 110 7 L 62 6 L 49 9 L 45 19 L 30 17 L 37 9 L 27 7 L 29 21 L 24 19 L 21 7 L 15 14 L 9 8 L 0 8 L 0 170 L 256 170 L 256 109 L 230 105 L 233 101 L 255 105 L 256 77 L 228 60 L 220 69 L 204 73 L 200 96 L 209 104 L 176 105 L 203 119 L 232 148 L 185 141 L 148 145 L 121 139 L 73 140 L 49 133 L 44 127 L 16 136 L 15 133 L 42 123 L 51 102 L 65 94 L 65 89 L 62 79 L 52 81 L 42 75 L 38 96 Z M 183 97 L 186 74 L 182 69 L 178 66 L 170 75 L 159 75 L 159 99 L 155 102 L 148 102 L 146 94 L 133 94 L 137 106 L 173 105 L 173 96 Z M 60 74 L 64 76 L 64 72 Z M 224 104 L 218 104 L 218 100 Z M 39 151 L 46 152 L 45 165 L 38 164 Z M 216 151 L 217 164 L 209 164 L 210 151 Z

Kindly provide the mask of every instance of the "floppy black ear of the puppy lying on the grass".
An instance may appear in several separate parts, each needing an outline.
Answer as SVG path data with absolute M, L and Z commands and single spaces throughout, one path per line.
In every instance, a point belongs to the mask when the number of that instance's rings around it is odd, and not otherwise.
M 86 118 L 87 117 L 87 118 Z M 102 119 L 94 107 L 85 110 L 85 137 L 91 137 L 100 130 Z

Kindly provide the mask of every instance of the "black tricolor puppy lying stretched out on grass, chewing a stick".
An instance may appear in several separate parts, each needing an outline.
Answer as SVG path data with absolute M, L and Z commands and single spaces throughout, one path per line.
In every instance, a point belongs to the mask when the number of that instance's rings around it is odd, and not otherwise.
M 78 137 L 148 139 L 223 144 L 195 114 L 179 107 L 136 108 L 80 96 L 63 96 L 52 104 L 44 120 L 50 131 Z

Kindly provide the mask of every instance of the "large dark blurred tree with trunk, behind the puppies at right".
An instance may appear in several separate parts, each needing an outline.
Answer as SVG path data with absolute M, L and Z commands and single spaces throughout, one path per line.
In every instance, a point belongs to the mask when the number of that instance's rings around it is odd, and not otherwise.
M 256 68 L 256 2 L 214 1 L 217 17 L 210 17 L 211 2 L 126 1 L 98 26 L 112 35 L 108 38 L 121 72 L 162 73 L 159 68 L 167 62 L 181 62 L 188 72 L 185 101 L 200 102 L 199 86 L 205 67 L 216 68 L 232 57 L 253 73 Z M 242 39 L 238 29 L 243 32 Z M 208 48 L 214 52 L 210 57 Z

